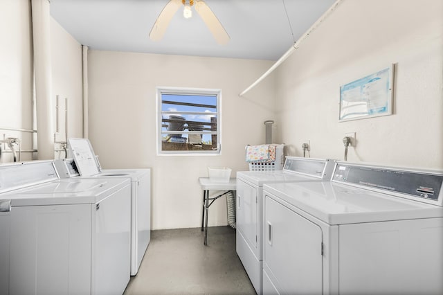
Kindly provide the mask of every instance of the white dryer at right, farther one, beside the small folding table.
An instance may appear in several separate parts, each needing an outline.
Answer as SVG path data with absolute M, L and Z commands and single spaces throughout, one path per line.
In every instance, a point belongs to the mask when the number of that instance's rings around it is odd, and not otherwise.
M 287 181 L 329 181 L 330 159 L 287 157 L 283 170 L 237 172 L 236 250 L 257 294 L 262 294 L 262 186 Z

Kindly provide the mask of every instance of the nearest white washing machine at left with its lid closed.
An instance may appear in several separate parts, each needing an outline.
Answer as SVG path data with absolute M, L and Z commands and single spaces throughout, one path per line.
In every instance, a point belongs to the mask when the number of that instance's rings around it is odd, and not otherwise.
M 58 179 L 52 161 L 36 161 L 1 167 L 0 188 L 0 203 L 10 204 L 1 294 L 123 294 L 129 179 Z

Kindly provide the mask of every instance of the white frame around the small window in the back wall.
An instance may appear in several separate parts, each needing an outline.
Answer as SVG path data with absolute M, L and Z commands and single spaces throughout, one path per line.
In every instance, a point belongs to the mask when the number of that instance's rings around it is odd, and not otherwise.
M 189 95 L 210 95 L 216 96 L 217 101 L 217 131 L 203 132 L 205 134 L 217 134 L 217 149 L 216 150 L 162 150 L 162 115 L 163 114 L 180 114 L 183 112 L 168 112 L 162 111 L 162 94 L 189 94 Z M 183 113 L 184 114 L 184 113 Z M 168 132 L 174 133 L 174 132 Z M 184 134 L 201 134 L 202 132 L 183 131 Z M 218 156 L 221 154 L 221 89 L 203 89 L 203 88 L 186 88 L 186 87 L 156 87 L 156 141 L 157 141 L 157 155 L 158 156 Z

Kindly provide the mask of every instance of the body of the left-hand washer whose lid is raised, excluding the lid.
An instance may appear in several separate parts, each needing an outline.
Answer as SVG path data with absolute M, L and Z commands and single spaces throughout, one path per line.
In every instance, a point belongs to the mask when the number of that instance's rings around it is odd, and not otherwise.
M 55 160 L 62 178 L 80 177 L 73 159 Z M 131 276 L 136 276 L 151 240 L 151 170 L 104 169 L 82 178 L 129 178 L 131 180 Z

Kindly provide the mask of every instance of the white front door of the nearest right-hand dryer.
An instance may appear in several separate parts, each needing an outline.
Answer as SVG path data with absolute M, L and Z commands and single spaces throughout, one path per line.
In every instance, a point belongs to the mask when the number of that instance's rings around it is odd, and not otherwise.
M 264 278 L 269 276 L 264 289 L 274 293 L 274 288 L 280 294 L 322 294 L 322 230 L 270 197 L 264 202 Z

